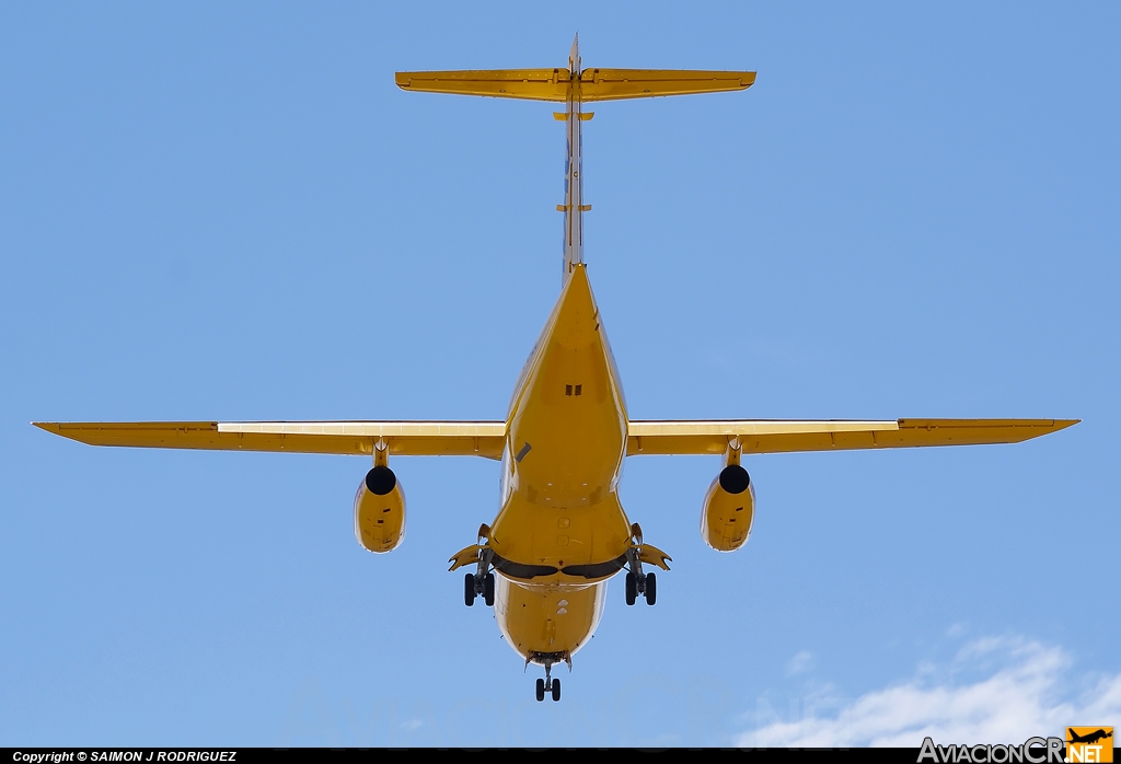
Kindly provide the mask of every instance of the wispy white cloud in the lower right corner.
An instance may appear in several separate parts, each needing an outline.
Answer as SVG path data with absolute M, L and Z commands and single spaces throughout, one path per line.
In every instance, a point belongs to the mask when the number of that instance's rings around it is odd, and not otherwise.
M 926 736 L 942 744 L 1022 743 L 1062 735 L 1066 725 L 1121 726 L 1121 674 L 1072 682 L 1071 663 L 1062 649 L 1038 642 L 979 640 L 948 667 L 920 665 L 909 682 L 855 700 L 831 704 L 831 688 L 818 690 L 802 704 L 800 719 L 782 721 L 761 700 L 756 729 L 739 735 L 736 745 L 917 747 Z M 1073 697 L 1072 684 L 1081 687 Z M 836 712 L 822 714 L 827 710 Z

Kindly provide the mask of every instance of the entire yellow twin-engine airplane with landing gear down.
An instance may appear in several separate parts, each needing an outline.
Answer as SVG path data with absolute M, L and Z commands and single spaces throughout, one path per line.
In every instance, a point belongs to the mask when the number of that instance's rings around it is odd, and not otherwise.
M 513 390 L 504 421 L 321 422 L 35 422 L 95 446 L 354 454 L 373 467 L 354 497 L 354 534 L 372 552 L 397 548 L 405 534 L 405 493 L 393 456 L 482 456 L 500 459 L 498 516 L 452 556 L 464 577 L 464 602 L 493 606 L 506 641 L 545 669 L 537 700 L 560 699 L 552 668 L 587 644 L 603 613 L 606 583 L 626 570 L 626 599 L 657 598 L 669 556 L 647 543 L 619 502 L 628 456 L 712 454 L 723 468 L 708 486 L 701 537 L 713 549 L 739 549 L 751 533 L 754 487 L 744 454 L 1018 442 L 1078 420 L 892 419 L 886 421 L 631 421 L 583 257 L 581 128 L 584 103 L 742 91 L 753 72 L 582 68 L 574 41 L 567 68 L 401 72 L 406 91 L 488 95 L 563 103 L 567 162 L 560 296 Z M 497 575 L 495 575 L 497 574 Z

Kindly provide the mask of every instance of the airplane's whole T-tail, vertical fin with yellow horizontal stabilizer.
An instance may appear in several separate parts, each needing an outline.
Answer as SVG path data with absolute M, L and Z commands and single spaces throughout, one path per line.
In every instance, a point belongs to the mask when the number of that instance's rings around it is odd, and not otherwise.
M 580 36 L 573 40 L 568 67 L 552 69 L 475 69 L 460 72 L 398 72 L 397 86 L 424 93 L 487 95 L 498 99 L 564 103 L 554 117 L 565 123 L 564 268 L 562 286 L 573 268 L 584 262 L 584 177 L 581 162 L 581 125 L 592 119 L 583 104 L 659 95 L 692 95 L 742 91 L 756 81 L 754 72 L 701 72 L 691 69 L 585 69 L 580 60 Z

